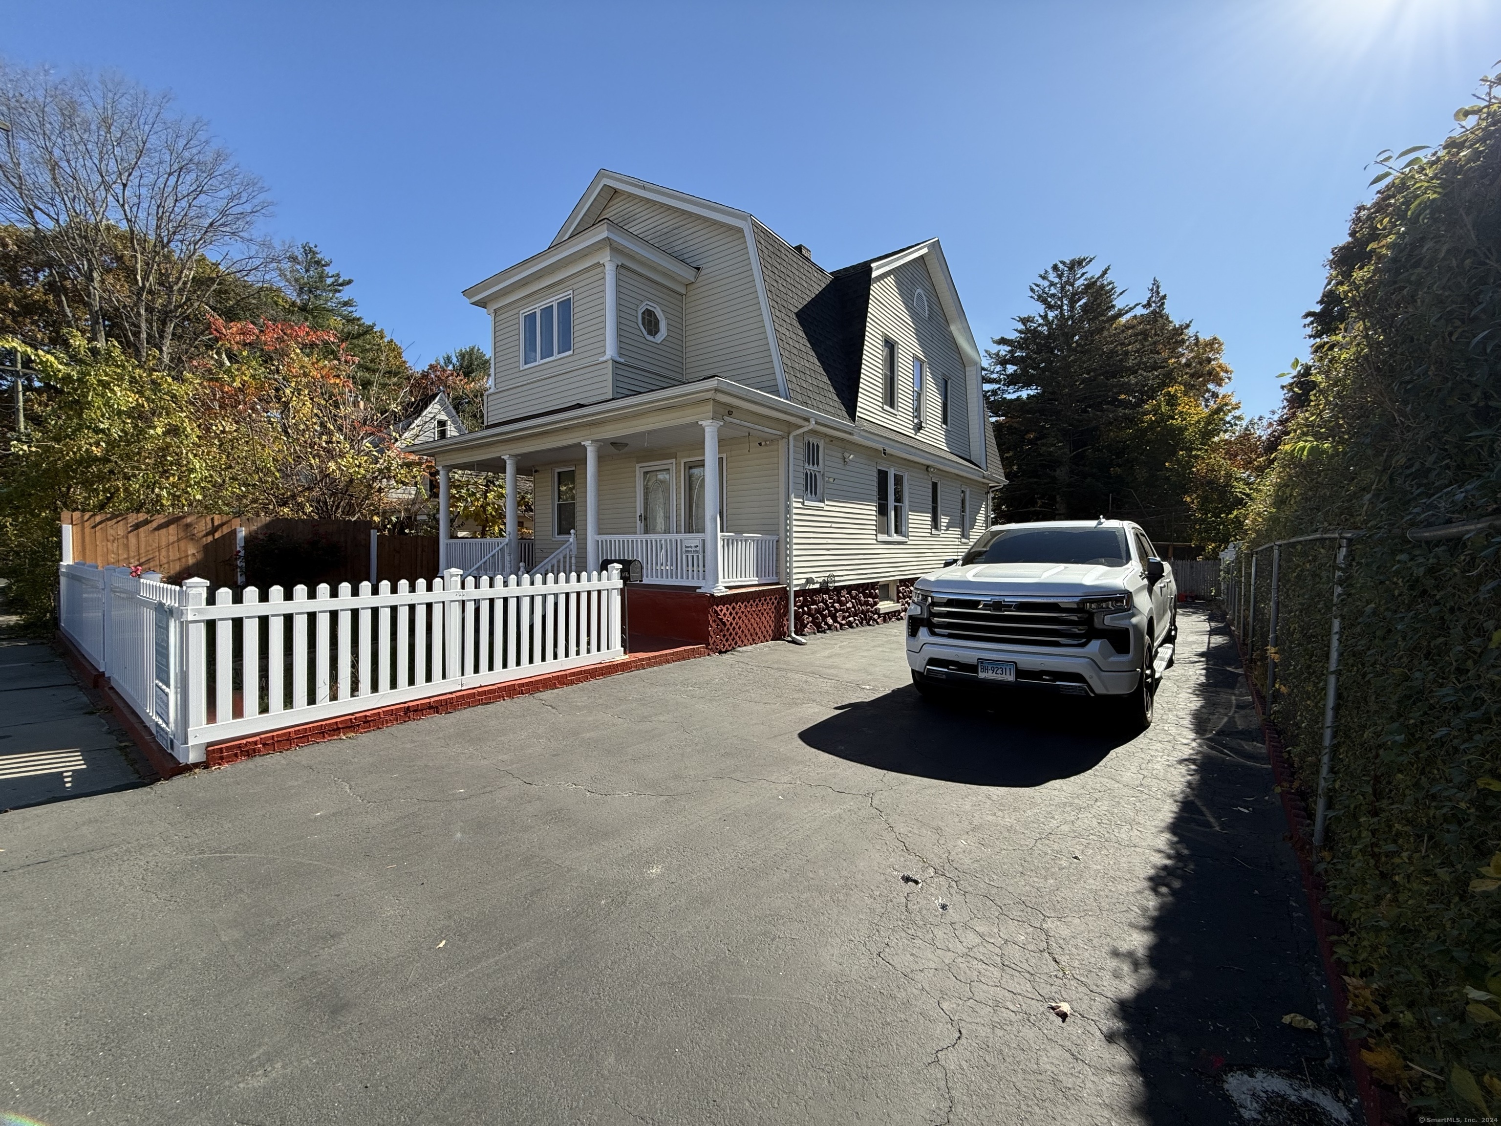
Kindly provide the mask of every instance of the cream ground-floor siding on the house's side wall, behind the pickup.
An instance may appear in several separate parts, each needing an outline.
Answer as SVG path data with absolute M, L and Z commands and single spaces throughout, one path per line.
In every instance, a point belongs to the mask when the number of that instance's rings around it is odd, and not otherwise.
M 985 489 L 958 477 L 937 474 L 941 530 L 929 524 L 929 482 L 922 464 L 883 458 L 877 450 L 841 446 L 836 437 L 824 443 L 824 503 L 793 501 L 797 586 L 832 583 L 878 583 L 914 578 L 937 571 L 944 560 L 962 555 L 982 530 L 979 510 Z M 802 480 L 803 449 L 794 450 L 794 480 Z M 853 453 L 851 461 L 845 455 Z M 886 467 L 907 474 L 907 542 L 881 542 L 875 530 L 875 470 Z M 970 491 L 970 539 L 959 528 L 959 489 Z

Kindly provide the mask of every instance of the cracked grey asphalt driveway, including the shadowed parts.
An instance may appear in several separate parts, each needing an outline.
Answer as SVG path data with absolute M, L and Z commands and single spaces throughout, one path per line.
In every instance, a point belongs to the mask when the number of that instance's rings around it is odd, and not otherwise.
M 1181 620 L 1130 742 L 925 704 L 883 626 L 0 815 L 0 1111 L 1354 1121 L 1234 650 Z

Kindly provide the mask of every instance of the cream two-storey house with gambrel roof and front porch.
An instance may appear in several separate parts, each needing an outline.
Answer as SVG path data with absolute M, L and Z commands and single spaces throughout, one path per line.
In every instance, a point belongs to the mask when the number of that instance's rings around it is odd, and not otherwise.
M 416 452 L 531 474 L 539 571 L 641 560 L 633 631 L 781 637 L 788 590 L 799 632 L 875 620 L 1006 480 L 937 239 L 829 272 L 747 212 L 600 171 L 551 246 L 464 296 L 491 315 L 486 426 Z

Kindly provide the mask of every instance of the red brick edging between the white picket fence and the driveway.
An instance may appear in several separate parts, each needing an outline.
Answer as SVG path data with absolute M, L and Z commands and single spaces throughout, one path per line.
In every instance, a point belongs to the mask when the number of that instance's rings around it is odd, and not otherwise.
M 635 653 L 623 656 L 618 661 L 606 661 L 600 665 L 582 665 L 579 668 L 566 668 L 560 673 L 543 673 L 542 676 L 524 677 L 521 680 L 503 680 L 498 685 L 465 688 L 440 697 L 410 700 L 402 704 L 387 704 L 384 707 L 374 707 L 369 712 L 356 712 L 350 716 L 320 719 L 314 724 L 302 724 L 300 727 L 287 727 L 279 731 L 246 736 L 245 739 L 210 743 L 207 751 L 207 766 L 228 766 L 230 763 L 240 763 L 257 755 L 272 755 L 279 751 L 291 751 L 297 746 L 306 746 L 308 743 L 324 743 L 330 739 L 344 739 L 345 736 L 357 736 L 365 731 L 377 731 L 383 727 L 405 724 L 411 719 L 440 716 L 447 712 L 459 712 L 465 707 L 494 704 L 500 700 L 513 700 L 516 697 L 531 695 L 533 692 L 546 692 L 552 688 L 566 688 L 569 685 L 582 685 L 588 680 L 600 680 L 608 676 L 615 676 L 617 673 L 635 673 L 641 668 L 656 668 L 657 665 L 671 665 L 678 661 L 692 661 L 693 658 L 701 656 L 708 656 L 708 649 L 705 646 L 680 646 L 677 649 L 665 649 L 654 653 Z

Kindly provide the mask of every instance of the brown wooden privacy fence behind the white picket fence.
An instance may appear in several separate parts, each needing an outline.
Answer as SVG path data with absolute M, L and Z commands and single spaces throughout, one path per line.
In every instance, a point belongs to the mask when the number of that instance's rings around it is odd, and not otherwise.
M 62 524 L 65 561 L 138 566 L 174 583 L 396 583 L 440 569 L 437 536 L 377 534 L 368 519 L 65 512 Z

